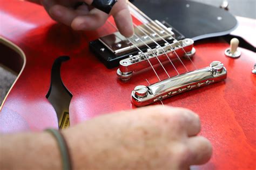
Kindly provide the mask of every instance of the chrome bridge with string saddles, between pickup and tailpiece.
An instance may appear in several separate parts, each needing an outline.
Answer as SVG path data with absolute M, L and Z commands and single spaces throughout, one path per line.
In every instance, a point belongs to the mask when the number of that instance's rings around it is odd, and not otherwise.
M 119 79 L 127 81 L 132 77 L 134 72 L 150 67 L 149 61 L 152 66 L 157 65 L 159 62 L 156 59 L 156 55 L 157 58 L 163 62 L 176 59 L 176 53 L 179 56 L 184 56 L 184 50 L 187 52 L 185 56 L 192 57 L 194 53 L 196 53 L 193 44 L 194 41 L 192 39 L 184 39 L 175 41 L 172 44 L 165 44 L 163 47 L 157 46 L 154 49 L 147 49 L 145 53 L 139 52 L 137 55 L 130 55 L 129 58 L 119 62 L 117 75 Z M 184 50 L 182 48 L 184 48 Z

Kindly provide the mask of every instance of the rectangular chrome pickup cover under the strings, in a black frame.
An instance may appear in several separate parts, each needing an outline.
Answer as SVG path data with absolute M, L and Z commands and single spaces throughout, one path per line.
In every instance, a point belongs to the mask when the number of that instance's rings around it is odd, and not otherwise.
M 152 24 L 152 22 L 134 28 L 134 33 L 136 34 L 136 36 L 130 38 L 130 41 L 132 43 L 124 36 L 122 36 L 119 32 L 115 32 L 105 37 L 101 37 L 99 38 L 99 41 L 102 42 L 114 54 L 122 55 L 123 53 L 129 53 L 136 50 L 136 46 L 141 48 L 145 47 L 145 44 L 150 45 L 154 41 L 160 42 L 161 40 L 163 40 L 163 38 L 170 39 L 172 37 L 175 37 L 171 29 L 167 28 L 157 20 L 155 22 L 161 27 L 161 29 Z M 149 27 L 151 29 L 149 29 Z M 144 30 L 144 32 L 142 30 Z M 145 36 L 145 32 L 148 34 L 148 36 Z M 156 33 L 159 34 L 161 37 L 157 36 Z M 143 42 L 141 40 L 143 40 Z M 134 46 L 134 44 L 136 46 Z

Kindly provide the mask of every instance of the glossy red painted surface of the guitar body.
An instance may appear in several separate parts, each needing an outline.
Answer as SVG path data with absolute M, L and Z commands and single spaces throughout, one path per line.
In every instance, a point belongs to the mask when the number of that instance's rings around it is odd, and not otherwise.
M 90 40 L 114 31 L 110 24 L 93 32 L 74 32 L 53 22 L 41 6 L 14 0 L 0 1 L 0 15 L 1 36 L 21 47 L 27 60 L 0 112 L 1 132 L 57 128 L 55 110 L 45 95 L 50 86 L 52 63 L 60 55 L 71 57 L 61 69 L 63 82 L 73 95 L 71 125 L 108 112 L 135 108 L 130 101 L 133 88 L 147 84 L 145 79 L 150 83 L 157 81 L 149 69 L 134 75 L 129 82 L 121 82 L 116 69 L 107 69 L 89 51 Z M 197 112 L 202 122 L 200 134 L 212 142 L 212 159 L 194 169 L 256 167 L 256 75 L 251 73 L 255 53 L 239 48 L 242 56 L 231 59 L 224 55 L 227 47 L 222 39 L 200 41 L 195 44 L 197 53 L 193 58 L 198 68 L 214 60 L 223 62 L 228 70 L 226 81 L 164 100 L 165 105 Z M 189 60 L 184 62 L 189 70 L 194 69 Z M 178 61 L 174 65 L 184 72 Z M 170 64 L 166 67 L 171 75 L 177 74 Z M 160 67 L 156 69 L 159 74 L 163 72 Z M 166 75 L 162 73 L 160 78 Z

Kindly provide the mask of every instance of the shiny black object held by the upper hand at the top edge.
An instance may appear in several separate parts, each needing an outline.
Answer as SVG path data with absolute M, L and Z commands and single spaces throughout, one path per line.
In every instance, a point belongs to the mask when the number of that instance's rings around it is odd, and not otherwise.
M 109 14 L 117 0 L 93 0 L 92 6 Z

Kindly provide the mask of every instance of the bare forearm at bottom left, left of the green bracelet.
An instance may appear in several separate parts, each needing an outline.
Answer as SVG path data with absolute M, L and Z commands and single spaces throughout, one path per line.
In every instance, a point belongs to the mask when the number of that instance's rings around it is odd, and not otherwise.
M 1 135 L 0 169 L 62 169 L 55 138 L 45 132 Z

